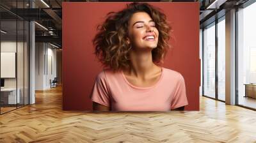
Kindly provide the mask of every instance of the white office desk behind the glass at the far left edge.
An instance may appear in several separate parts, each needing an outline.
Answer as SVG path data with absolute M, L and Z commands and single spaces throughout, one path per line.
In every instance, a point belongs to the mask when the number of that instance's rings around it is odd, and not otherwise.
M 1 102 L 4 104 L 16 104 L 20 103 L 20 89 L 17 89 L 18 94 L 16 98 L 16 88 L 4 88 L 1 89 Z

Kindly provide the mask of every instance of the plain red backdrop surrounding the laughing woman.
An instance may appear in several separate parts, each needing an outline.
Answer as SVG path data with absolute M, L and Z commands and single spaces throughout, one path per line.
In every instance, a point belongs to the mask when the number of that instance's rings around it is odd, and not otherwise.
M 102 66 L 93 55 L 92 39 L 97 24 L 109 11 L 127 3 L 63 3 L 63 110 L 92 110 L 89 94 Z M 165 68 L 180 72 L 186 83 L 189 105 L 199 110 L 199 3 L 150 3 L 161 8 L 173 28 L 173 50 L 164 60 Z

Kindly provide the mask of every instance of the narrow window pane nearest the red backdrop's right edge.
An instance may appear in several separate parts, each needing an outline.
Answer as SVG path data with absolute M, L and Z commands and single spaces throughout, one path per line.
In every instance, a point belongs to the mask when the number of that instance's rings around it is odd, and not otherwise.
M 215 98 L 215 23 L 204 29 L 204 96 Z

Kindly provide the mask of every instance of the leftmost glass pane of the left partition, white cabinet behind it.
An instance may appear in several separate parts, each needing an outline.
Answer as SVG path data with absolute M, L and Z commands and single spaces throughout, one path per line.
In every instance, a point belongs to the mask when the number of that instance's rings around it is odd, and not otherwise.
M 4 31 L 4 32 L 3 32 Z M 1 21 L 1 113 L 17 108 L 17 21 Z

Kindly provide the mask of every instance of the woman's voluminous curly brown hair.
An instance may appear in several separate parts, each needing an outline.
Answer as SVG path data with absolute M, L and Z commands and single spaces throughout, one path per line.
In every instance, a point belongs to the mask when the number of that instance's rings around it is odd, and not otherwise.
M 166 52 L 170 48 L 168 40 L 171 27 L 166 22 L 166 15 L 150 4 L 131 3 L 127 4 L 127 8 L 122 11 L 108 13 L 104 23 L 97 27 L 99 32 L 93 39 L 94 54 L 104 67 L 108 66 L 114 71 L 130 68 L 129 51 L 131 46 L 127 43 L 128 22 L 132 14 L 140 11 L 148 13 L 156 23 L 159 40 L 157 47 L 152 50 L 152 60 L 154 63 L 163 63 Z

